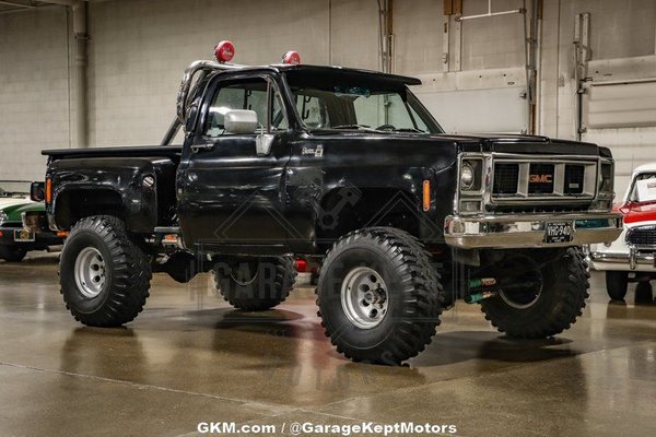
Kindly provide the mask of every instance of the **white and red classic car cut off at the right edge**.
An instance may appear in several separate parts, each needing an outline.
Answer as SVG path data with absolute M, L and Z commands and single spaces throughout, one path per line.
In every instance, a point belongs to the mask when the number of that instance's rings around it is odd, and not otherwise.
M 624 216 L 624 231 L 611 244 L 590 247 L 590 268 L 606 271 L 612 299 L 626 295 L 629 282 L 656 279 L 656 163 L 633 172 L 631 185 L 613 211 Z

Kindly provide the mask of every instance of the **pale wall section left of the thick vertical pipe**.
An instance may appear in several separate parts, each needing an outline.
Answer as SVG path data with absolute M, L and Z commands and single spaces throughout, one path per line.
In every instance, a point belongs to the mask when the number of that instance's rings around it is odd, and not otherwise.
M 0 15 L 0 180 L 43 178 L 40 151 L 69 146 L 67 43 L 62 8 Z

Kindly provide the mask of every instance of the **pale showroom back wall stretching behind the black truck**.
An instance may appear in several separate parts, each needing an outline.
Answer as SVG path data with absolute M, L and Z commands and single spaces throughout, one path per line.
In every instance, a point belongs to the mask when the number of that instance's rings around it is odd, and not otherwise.
M 527 3 L 530 9 L 532 1 Z M 464 0 L 461 13 L 484 14 L 488 4 Z M 499 12 L 524 2 L 491 4 Z M 546 0 L 536 130 L 611 145 L 618 174 L 625 178 L 639 162 L 656 161 L 656 147 L 649 146 L 656 117 L 649 121 L 647 107 L 641 126 L 586 129 L 587 114 L 577 121 L 573 40 L 576 15 L 584 12 L 590 13 L 591 82 L 656 76 L 656 2 Z M 42 149 L 77 145 L 70 15 L 63 7 L 0 15 L 0 146 L 5 152 L 0 179 L 40 178 Z M 393 70 L 422 78 L 417 92 L 447 131 L 528 129 L 523 14 L 458 22 L 445 17 L 443 1 L 395 0 L 393 17 Z M 380 69 L 378 32 L 376 0 L 91 1 L 89 144 L 159 143 L 173 118 L 184 68 L 210 58 L 219 39 L 236 44 L 235 62 L 277 62 L 294 49 L 305 63 Z M 640 68 L 626 67 L 635 62 Z

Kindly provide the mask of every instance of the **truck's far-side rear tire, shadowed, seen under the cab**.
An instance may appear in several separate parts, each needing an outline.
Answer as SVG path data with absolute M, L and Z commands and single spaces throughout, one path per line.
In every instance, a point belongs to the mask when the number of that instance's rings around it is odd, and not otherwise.
M 233 259 L 214 265 L 214 284 L 235 308 L 263 311 L 282 303 L 296 281 L 292 257 Z

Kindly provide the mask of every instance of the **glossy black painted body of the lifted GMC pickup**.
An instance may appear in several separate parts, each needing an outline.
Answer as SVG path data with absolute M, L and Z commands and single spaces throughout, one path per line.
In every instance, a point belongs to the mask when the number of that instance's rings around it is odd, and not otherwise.
M 401 227 L 438 246 L 454 209 L 460 153 L 610 155 L 594 144 L 546 137 L 306 130 L 286 85 L 291 70 L 326 80 L 348 72 L 377 87 L 418 83 L 312 66 L 214 73 L 194 99 L 183 147 L 45 151 L 54 187 L 50 223 L 68 229 L 83 215 L 113 214 L 145 235 L 179 223 L 187 248 L 207 253 L 323 255 L 348 232 L 375 225 Z M 272 133 L 263 156 L 256 153 L 255 133 L 202 134 L 216 84 L 250 76 L 266 78 L 280 91 L 289 120 L 286 131 Z M 151 187 L 147 176 L 155 179 Z M 426 180 L 431 204 L 423 211 Z

